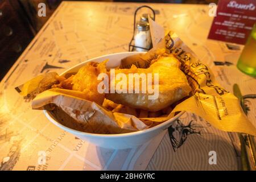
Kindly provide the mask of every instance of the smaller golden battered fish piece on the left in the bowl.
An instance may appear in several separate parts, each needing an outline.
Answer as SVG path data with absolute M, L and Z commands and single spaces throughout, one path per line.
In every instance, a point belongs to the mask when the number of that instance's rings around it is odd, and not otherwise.
M 61 81 L 60 84 L 53 86 L 53 88 L 80 91 L 84 93 L 82 94 L 82 98 L 101 105 L 104 101 L 105 94 L 99 93 L 97 90 L 97 86 L 100 83 L 97 77 L 100 73 L 106 73 L 105 65 L 107 61 L 102 63 L 89 62 L 84 67 L 81 67 L 76 75 L 72 75 Z

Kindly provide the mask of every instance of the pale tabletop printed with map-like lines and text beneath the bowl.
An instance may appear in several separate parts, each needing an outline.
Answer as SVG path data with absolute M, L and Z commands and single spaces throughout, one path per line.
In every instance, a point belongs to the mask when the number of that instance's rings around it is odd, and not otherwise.
M 172 133 L 143 146 L 111 150 L 61 130 L 15 91 L 37 75 L 61 73 L 93 57 L 126 52 L 134 11 L 141 5 L 151 6 L 156 22 L 175 31 L 224 88 L 232 92 L 237 83 L 243 95 L 255 93 L 255 78 L 236 68 L 243 46 L 207 39 L 213 20 L 208 5 L 62 2 L 1 81 L 0 170 L 240 169 L 237 135 L 217 130 L 195 114 L 183 114 L 172 124 Z M 246 100 L 246 105 L 255 125 L 255 100 Z M 210 151 L 216 152 L 217 164 L 209 163 Z

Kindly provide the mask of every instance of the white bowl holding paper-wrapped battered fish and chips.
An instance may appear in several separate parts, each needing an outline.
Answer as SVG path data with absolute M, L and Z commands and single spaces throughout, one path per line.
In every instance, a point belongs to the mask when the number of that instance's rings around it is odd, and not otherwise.
M 77 64 L 75 67 L 68 69 L 61 75 L 77 72 L 79 68 L 81 68 L 83 65 L 85 65 L 90 61 L 101 62 L 106 59 L 109 59 L 107 67 L 115 68 L 115 67 L 118 67 L 118 65 L 121 63 L 121 59 L 130 55 L 135 55 L 137 53 L 139 52 L 120 52 L 120 53 L 113 53 L 111 55 L 96 57 L 94 59 L 90 59 L 83 63 Z M 96 146 L 105 147 L 105 148 L 114 148 L 114 149 L 133 148 L 148 142 L 148 140 L 158 136 L 164 130 L 166 130 L 171 125 L 171 122 L 175 121 L 183 113 L 184 111 L 181 111 L 179 114 L 175 115 L 175 117 L 169 119 L 168 121 L 143 131 L 136 131 L 133 133 L 125 133 L 125 134 L 92 134 L 92 133 L 85 133 L 82 131 L 70 129 L 67 126 L 61 125 L 61 123 L 59 123 L 57 119 L 55 119 L 55 117 L 52 115 L 50 111 L 44 110 L 44 114 L 49 119 L 49 121 L 51 121 L 54 125 L 60 127 L 61 129 L 74 134 L 76 137 L 82 140 L 86 140 L 90 143 L 93 143 Z

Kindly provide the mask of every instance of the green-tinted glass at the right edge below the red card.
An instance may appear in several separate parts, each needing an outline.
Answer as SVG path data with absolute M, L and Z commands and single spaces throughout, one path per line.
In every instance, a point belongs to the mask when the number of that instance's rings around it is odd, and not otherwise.
M 247 75 L 256 76 L 256 23 L 237 62 L 237 68 Z

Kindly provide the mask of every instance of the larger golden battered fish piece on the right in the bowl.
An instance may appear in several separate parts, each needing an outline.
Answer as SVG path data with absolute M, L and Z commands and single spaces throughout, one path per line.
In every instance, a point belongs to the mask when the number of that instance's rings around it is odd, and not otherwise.
M 119 87 L 120 81 L 122 79 L 118 78 L 118 73 L 124 73 L 126 75 L 126 80 L 129 80 L 129 73 L 152 73 L 152 86 L 158 86 L 158 98 L 154 100 L 148 99 L 148 96 L 152 95 L 152 92 L 148 92 L 148 86 L 146 93 L 135 92 L 136 82 L 134 81 L 133 93 L 129 92 L 129 81 L 127 81 L 127 90 L 126 93 L 123 93 L 123 87 Z M 154 74 L 158 73 L 159 83 L 154 84 Z M 109 73 L 108 73 L 109 74 Z M 115 79 L 113 81 L 113 79 Z M 144 81 L 139 79 L 137 81 L 137 86 L 142 91 L 144 87 Z M 181 98 L 184 98 L 189 95 L 191 92 L 191 87 L 188 84 L 187 78 L 184 73 L 180 70 L 180 62 L 173 55 L 164 55 L 160 56 L 157 60 L 152 61 L 152 64 L 149 68 L 137 68 L 134 65 L 130 69 L 115 69 L 115 77 L 110 79 L 109 88 L 115 86 L 115 93 L 106 94 L 106 98 L 117 104 L 122 104 L 130 106 L 136 109 L 144 109 L 149 111 L 158 111 L 164 109 L 165 107 L 173 104 L 176 101 L 179 101 Z M 118 90 L 121 88 L 121 90 Z M 137 87 L 138 88 L 138 87 Z M 121 93 L 122 92 L 122 93 Z

